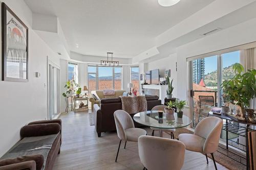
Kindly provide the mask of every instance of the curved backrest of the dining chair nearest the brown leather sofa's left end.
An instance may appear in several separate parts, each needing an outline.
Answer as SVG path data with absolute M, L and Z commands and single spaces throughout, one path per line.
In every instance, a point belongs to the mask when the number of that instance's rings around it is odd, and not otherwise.
M 129 113 L 124 110 L 117 110 L 114 112 L 117 136 L 121 140 L 126 140 L 125 130 L 134 128 L 133 119 Z

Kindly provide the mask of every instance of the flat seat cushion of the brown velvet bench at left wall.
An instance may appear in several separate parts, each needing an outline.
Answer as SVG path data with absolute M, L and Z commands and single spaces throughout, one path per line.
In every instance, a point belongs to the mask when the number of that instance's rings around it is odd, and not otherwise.
M 42 169 L 45 169 L 48 154 L 52 149 L 52 144 L 59 134 L 60 133 L 46 136 L 25 137 L 14 144 L 13 147 L 1 157 L 1 159 L 13 159 L 16 157 L 39 154 L 44 156 Z

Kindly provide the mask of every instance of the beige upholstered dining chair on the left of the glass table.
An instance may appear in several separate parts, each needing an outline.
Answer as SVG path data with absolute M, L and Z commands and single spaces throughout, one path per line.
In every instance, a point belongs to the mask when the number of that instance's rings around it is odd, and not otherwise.
M 146 135 L 146 131 L 144 129 L 135 128 L 133 119 L 129 113 L 124 110 L 117 110 L 114 112 L 117 136 L 120 139 L 119 147 L 117 150 L 116 161 L 120 149 L 121 141 L 124 140 L 124 149 L 126 147 L 127 141 L 138 142 L 138 138 L 141 135 Z

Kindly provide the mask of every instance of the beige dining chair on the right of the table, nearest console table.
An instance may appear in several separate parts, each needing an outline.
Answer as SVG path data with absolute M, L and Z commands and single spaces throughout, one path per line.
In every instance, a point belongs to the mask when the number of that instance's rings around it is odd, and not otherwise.
M 197 124 L 194 134 L 183 133 L 178 139 L 185 144 L 186 150 L 205 154 L 207 163 L 209 163 L 207 154 L 211 154 L 215 169 L 217 169 L 214 152 L 218 149 L 222 125 L 221 118 L 206 117 Z

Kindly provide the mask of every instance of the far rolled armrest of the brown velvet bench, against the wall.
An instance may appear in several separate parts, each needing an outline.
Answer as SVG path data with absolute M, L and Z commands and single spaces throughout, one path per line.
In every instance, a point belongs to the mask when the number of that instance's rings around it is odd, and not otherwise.
M 31 137 L 31 136 L 45 136 L 57 134 L 60 132 L 60 125 L 57 123 L 53 124 L 35 124 L 26 125 L 20 129 L 20 136 Z

